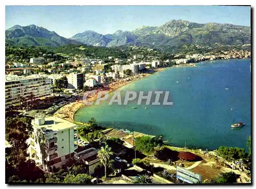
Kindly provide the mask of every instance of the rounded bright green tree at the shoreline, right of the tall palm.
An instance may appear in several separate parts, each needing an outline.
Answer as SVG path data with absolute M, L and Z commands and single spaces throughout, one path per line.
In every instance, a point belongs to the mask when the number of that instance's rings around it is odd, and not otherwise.
M 156 147 L 156 142 L 148 136 L 135 138 L 135 148 L 142 153 L 150 154 L 154 151 L 154 147 Z

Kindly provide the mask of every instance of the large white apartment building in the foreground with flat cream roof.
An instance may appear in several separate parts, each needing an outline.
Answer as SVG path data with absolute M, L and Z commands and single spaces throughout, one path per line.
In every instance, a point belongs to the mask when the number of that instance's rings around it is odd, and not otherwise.
M 77 149 L 77 125 L 58 117 L 40 117 L 31 121 L 33 133 L 28 139 L 30 159 L 44 170 L 62 169 Z

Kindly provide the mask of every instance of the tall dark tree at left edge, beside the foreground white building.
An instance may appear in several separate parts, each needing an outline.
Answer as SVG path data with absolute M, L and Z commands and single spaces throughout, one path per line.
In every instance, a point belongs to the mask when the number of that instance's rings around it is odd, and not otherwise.
M 5 131 L 6 140 L 11 145 L 11 154 L 8 159 L 14 168 L 19 168 L 28 156 L 27 140 L 33 131 L 31 120 L 24 117 L 7 117 Z

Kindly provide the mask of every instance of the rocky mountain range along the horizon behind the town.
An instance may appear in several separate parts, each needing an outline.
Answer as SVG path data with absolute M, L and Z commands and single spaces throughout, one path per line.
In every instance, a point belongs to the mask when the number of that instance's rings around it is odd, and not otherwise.
M 67 39 L 35 25 L 25 27 L 14 25 L 6 30 L 6 41 L 13 45 L 26 43 L 51 46 L 86 44 L 112 47 L 130 44 L 180 48 L 184 44 L 200 46 L 212 46 L 216 43 L 222 45 L 250 44 L 251 33 L 250 26 L 171 20 L 160 26 L 141 26 L 132 32 L 118 30 L 114 34 L 102 35 L 89 30 Z

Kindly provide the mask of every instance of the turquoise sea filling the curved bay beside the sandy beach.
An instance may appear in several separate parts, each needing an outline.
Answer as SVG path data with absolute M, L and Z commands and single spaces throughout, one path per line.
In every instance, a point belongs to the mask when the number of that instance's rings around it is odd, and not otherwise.
M 178 82 L 178 83 L 177 83 Z M 170 91 L 173 105 L 108 105 L 80 109 L 76 121 L 94 117 L 103 126 L 163 134 L 170 144 L 216 149 L 246 148 L 251 133 L 250 59 L 213 61 L 197 67 L 175 67 L 120 88 L 120 91 Z M 225 90 L 225 89 L 228 90 Z M 132 109 L 137 106 L 138 109 Z M 232 109 L 232 110 L 231 110 Z M 243 128 L 230 124 L 242 121 Z

